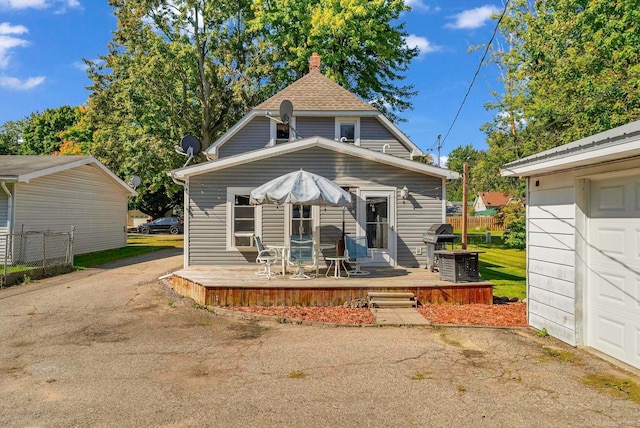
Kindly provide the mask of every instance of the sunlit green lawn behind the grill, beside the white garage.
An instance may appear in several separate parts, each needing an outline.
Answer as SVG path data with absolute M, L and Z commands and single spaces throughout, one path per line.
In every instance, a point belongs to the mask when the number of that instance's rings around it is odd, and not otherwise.
M 460 248 L 456 245 L 456 248 Z M 491 244 L 475 243 L 470 250 L 484 251 L 480 254 L 480 275 L 494 284 L 494 296 L 526 297 L 526 256 L 524 250 L 507 248 L 501 237 L 492 236 Z

